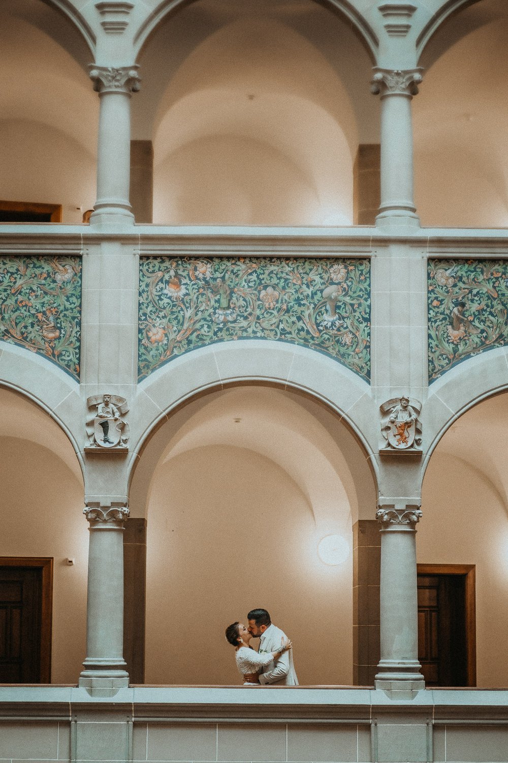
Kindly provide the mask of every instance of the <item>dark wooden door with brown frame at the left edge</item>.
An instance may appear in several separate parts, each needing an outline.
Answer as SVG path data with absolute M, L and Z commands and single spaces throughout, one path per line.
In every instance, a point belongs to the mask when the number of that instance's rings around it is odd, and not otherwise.
M 53 559 L 0 558 L 0 683 L 50 682 Z

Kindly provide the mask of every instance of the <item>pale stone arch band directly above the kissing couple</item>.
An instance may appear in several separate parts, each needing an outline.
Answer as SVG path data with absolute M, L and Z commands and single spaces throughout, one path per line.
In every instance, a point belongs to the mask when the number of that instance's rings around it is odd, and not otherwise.
M 270 340 L 238 340 L 194 350 L 139 385 L 136 407 L 139 414 L 142 408 L 149 411 L 149 417 L 139 420 L 137 439 L 132 438 L 129 485 L 152 433 L 169 417 L 196 398 L 241 385 L 296 391 L 331 410 L 359 443 L 377 490 L 375 432 L 369 428 L 376 412 L 366 382 L 321 353 Z

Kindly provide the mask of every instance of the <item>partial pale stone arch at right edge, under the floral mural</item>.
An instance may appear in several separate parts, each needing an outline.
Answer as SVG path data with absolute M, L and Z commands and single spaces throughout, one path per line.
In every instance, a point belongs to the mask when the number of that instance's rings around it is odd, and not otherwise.
M 486 385 L 486 380 L 492 380 Z M 508 349 L 500 347 L 468 359 L 435 381 L 423 406 L 427 448 L 422 479 L 436 446 L 458 418 L 487 398 L 508 389 Z

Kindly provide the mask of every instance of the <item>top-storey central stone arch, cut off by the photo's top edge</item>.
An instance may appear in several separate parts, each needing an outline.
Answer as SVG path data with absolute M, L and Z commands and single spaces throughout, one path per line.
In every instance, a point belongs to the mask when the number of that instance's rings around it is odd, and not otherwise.
M 136 56 L 139 55 L 149 37 L 169 14 L 179 11 L 181 8 L 190 5 L 192 2 L 195 2 L 195 0 L 162 0 L 162 2 L 159 3 L 159 5 L 145 19 L 134 37 Z M 372 63 L 375 64 L 379 47 L 378 38 L 372 30 L 372 27 L 370 27 L 366 19 L 363 18 L 363 15 L 359 14 L 356 10 L 353 3 L 348 2 L 348 0 L 317 0 L 317 2 L 320 2 L 321 5 L 326 5 L 331 11 L 335 11 L 347 22 L 347 24 L 350 24 L 353 27 L 359 40 L 361 40 L 369 53 Z

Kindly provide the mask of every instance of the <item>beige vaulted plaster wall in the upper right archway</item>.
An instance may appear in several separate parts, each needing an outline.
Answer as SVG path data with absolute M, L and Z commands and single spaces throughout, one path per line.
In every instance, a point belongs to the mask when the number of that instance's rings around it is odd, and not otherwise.
M 414 98 L 415 201 L 422 224 L 505 227 L 508 8 L 482 0 L 450 19 L 423 54 Z

